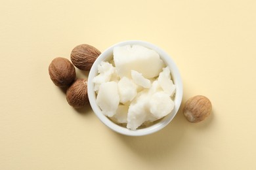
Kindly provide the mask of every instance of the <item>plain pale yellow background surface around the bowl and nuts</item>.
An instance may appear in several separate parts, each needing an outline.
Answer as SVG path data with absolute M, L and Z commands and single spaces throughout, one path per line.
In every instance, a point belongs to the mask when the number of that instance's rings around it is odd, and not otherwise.
M 255 0 L 1 0 L 0 169 L 256 169 L 255 9 Z M 70 107 L 51 60 L 130 39 L 168 52 L 182 106 L 202 94 L 213 114 L 191 124 L 180 110 L 158 133 L 127 137 L 91 107 Z

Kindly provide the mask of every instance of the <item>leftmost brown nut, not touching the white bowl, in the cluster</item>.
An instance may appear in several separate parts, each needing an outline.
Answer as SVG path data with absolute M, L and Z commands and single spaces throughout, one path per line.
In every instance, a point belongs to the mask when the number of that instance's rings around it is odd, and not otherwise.
M 56 86 L 69 86 L 75 80 L 75 67 L 66 58 L 54 58 L 48 71 Z

